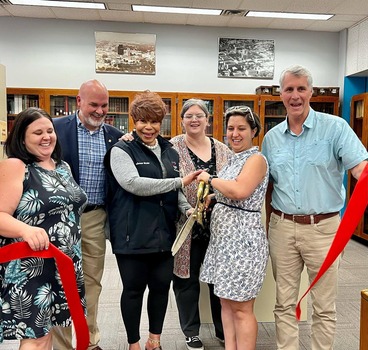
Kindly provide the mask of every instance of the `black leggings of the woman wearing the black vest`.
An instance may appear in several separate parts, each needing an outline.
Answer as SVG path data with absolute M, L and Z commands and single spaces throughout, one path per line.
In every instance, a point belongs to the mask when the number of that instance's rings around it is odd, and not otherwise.
M 147 286 L 149 331 L 161 334 L 173 277 L 171 252 L 115 256 L 123 282 L 120 308 L 128 343 L 133 344 L 140 339 L 143 294 Z

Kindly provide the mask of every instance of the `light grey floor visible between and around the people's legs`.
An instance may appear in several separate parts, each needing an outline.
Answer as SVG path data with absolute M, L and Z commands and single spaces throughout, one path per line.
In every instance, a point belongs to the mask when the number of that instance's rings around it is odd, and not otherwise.
M 103 285 L 99 312 L 99 326 L 102 335 L 100 346 L 103 350 L 125 350 L 128 347 L 119 306 L 122 286 L 110 246 L 106 255 Z M 338 323 L 334 350 L 359 349 L 360 291 L 366 288 L 368 288 L 368 246 L 351 240 L 347 245 L 340 267 L 337 300 Z M 143 310 L 145 310 L 145 305 Z M 310 349 L 309 320 L 310 308 L 308 307 L 308 321 L 300 324 L 300 350 Z M 142 349 L 148 332 L 147 328 L 147 315 L 143 312 L 141 323 Z M 223 349 L 223 346 L 214 336 L 214 329 L 211 324 L 202 325 L 200 336 L 206 350 Z M 164 350 L 186 349 L 172 292 L 162 335 L 162 347 Z M 17 349 L 17 343 L 4 342 L 0 345 L 0 349 Z M 273 322 L 259 323 L 257 350 L 274 349 L 276 349 L 276 346 Z

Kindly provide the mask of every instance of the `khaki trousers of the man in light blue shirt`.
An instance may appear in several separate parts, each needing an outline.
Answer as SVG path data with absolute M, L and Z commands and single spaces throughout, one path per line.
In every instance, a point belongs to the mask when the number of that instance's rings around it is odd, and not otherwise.
M 299 349 L 295 317 L 301 273 L 307 267 L 309 282 L 317 275 L 340 223 L 338 215 L 318 224 L 302 225 L 271 214 L 268 238 L 276 282 L 274 310 L 277 349 Z M 332 350 L 336 328 L 338 265 L 340 258 L 312 288 L 312 350 Z

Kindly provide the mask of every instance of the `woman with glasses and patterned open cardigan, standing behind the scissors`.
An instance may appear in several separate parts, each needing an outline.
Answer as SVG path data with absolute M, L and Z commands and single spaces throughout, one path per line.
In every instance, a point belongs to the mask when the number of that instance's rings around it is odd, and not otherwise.
M 206 136 L 209 111 L 202 100 L 187 100 L 180 112 L 184 134 L 170 140 L 179 153 L 179 168 L 181 176 L 196 169 L 205 169 L 211 175 L 227 163 L 231 151 L 223 143 Z M 183 191 L 188 202 L 195 207 L 198 185 L 193 182 Z M 209 208 L 210 210 L 211 208 Z M 189 213 L 188 213 L 189 214 Z M 173 288 L 179 312 L 180 326 L 185 335 L 189 350 L 203 349 L 199 338 L 199 270 L 209 242 L 210 212 L 204 219 L 204 228 L 195 224 L 182 247 L 175 255 Z M 186 220 L 182 215 L 177 228 L 180 229 Z M 216 337 L 223 341 L 224 334 L 221 323 L 221 305 L 213 294 L 213 286 L 209 285 L 212 319 Z

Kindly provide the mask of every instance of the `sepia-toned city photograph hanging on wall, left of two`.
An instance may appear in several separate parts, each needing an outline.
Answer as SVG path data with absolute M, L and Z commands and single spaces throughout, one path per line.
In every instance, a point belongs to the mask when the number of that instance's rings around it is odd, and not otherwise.
M 96 73 L 156 74 L 156 35 L 95 32 Z

